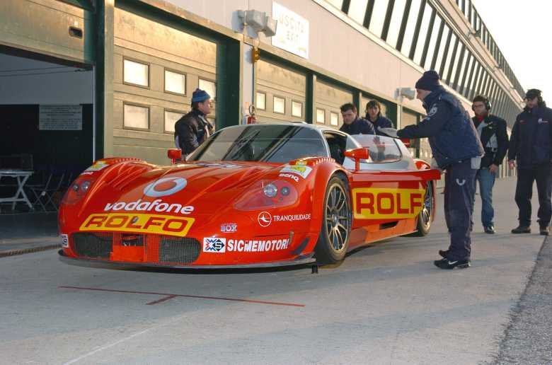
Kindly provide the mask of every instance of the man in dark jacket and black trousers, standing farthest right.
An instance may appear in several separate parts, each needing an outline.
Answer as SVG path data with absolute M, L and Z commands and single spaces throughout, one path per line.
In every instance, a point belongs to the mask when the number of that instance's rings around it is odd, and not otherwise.
M 539 226 L 548 236 L 551 207 L 552 110 L 546 108 L 541 91 L 532 88 L 525 94 L 525 108 L 517 115 L 508 151 L 508 166 L 517 164 L 516 203 L 519 226 L 512 233 L 531 233 L 533 182 L 539 192 Z

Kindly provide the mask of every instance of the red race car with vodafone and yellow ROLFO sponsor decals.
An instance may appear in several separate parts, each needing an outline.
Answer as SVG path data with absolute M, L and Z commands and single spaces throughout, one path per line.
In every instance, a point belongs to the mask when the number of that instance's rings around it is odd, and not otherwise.
M 62 200 L 59 254 L 186 268 L 334 263 L 360 245 L 427 234 L 439 178 L 399 139 L 227 127 L 171 166 L 96 161 Z

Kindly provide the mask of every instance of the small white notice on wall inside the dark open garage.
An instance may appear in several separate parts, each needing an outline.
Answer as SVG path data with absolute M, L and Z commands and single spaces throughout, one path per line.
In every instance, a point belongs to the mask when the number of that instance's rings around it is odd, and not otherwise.
M 82 130 L 82 105 L 40 105 L 41 131 Z

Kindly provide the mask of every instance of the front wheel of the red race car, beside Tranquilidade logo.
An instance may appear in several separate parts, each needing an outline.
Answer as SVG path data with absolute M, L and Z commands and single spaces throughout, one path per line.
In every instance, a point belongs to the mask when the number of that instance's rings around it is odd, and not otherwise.
M 343 261 L 351 234 L 352 210 L 347 183 L 338 176 L 326 186 L 322 210 L 322 226 L 314 253 L 321 264 Z

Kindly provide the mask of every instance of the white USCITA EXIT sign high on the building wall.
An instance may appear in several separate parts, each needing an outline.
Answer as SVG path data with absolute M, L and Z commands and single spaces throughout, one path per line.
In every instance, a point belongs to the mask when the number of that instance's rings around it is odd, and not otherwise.
M 272 18 L 278 21 L 272 45 L 299 57 L 309 58 L 309 21 L 274 2 Z

